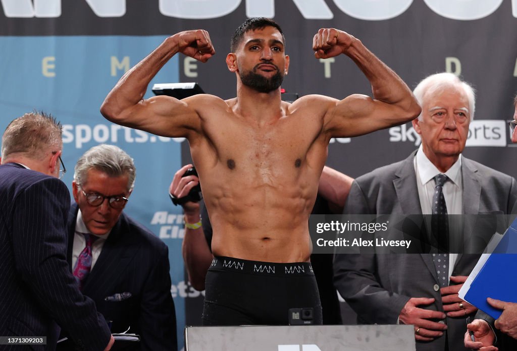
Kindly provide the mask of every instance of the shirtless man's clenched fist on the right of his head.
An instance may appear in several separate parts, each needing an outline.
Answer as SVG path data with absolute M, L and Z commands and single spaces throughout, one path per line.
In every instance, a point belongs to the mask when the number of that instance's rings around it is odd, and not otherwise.
M 312 39 L 312 50 L 316 58 L 329 58 L 346 53 L 356 40 L 348 33 L 335 28 L 321 28 Z

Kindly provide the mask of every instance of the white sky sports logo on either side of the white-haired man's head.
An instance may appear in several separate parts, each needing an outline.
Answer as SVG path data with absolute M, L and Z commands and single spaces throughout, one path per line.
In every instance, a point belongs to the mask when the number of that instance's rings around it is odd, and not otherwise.
M 409 141 L 419 146 L 422 140 L 410 123 L 391 127 L 388 132 L 391 142 Z M 468 127 L 466 146 L 505 147 L 509 133 L 508 123 L 504 120 L 474 120 Z

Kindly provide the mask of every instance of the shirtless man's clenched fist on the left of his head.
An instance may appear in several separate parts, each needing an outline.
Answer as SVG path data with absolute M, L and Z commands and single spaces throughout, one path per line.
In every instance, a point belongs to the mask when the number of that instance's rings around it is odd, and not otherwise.
M 210 36 L 204 29 L 181 31 L 172 37 L 178 43 L 178 52 L 198 61 L 206 62 L 216 53 Z

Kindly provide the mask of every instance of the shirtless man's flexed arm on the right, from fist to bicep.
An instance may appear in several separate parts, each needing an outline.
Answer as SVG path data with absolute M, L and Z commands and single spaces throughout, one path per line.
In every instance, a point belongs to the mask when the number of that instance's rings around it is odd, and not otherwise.
M 372 86 L 373 98 L 354 94 L 335 101 L 325 114 L 330 137 L 348 137 L 402 124 L 420 114 L 420 106 L 402 79 L 362 42 L 343 30 L 321 28 L 313 37 L 314 57 L 344 54 L 351 58 Z

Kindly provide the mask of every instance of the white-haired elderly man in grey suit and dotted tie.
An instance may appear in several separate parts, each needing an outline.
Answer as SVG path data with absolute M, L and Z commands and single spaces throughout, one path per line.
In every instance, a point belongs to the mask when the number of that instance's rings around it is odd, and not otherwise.
M 422 107 L 413 121 L 420 148 L 357 178 L 344 213 L 509 213 L 517 199 L 515 180 L 461 155 L 474 116 L 472 87 L 453 74 L 438 73 L 423 79 L 414 94 Z M 451 224 L 450 235 L 456 233 Z M 334 282 L 358 314 L 358 323 L 414 325 L 417 351 L 464 350 L 465 317 L 476 308 L 458 291 L 478 257 L 337 254 Z

